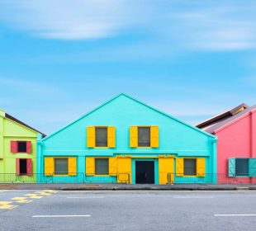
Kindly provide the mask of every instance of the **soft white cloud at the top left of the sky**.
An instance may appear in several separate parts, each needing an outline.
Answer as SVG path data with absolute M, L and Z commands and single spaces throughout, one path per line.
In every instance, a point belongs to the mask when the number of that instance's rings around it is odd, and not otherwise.
M 132 18 L 127 20 L 130 6 L 119 0 L 7 0 L 0 2 L 0 18 L 40 37 L 94 39 L 132 23 Z

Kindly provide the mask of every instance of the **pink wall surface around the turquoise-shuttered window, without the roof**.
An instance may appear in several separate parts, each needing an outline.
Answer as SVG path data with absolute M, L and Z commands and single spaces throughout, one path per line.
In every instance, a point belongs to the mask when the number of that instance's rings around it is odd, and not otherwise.
M 234 181 L 235 177 L 225 177 L 228 173 L 229 158 L 256 158 L 256 110 L 244 118 L 216 131 L 217 172 L 223 173 L 218 181 Z M 243 178 L 243 182 L 251 181 Z M 254 179 L 254 181 L 256 181 Z

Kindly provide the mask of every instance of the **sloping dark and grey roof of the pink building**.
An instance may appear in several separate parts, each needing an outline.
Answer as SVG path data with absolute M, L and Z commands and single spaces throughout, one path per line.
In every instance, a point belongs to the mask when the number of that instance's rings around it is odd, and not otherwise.
M 250 111 L 254 111 L 254 109 L 256 109 L 256 106 L 248 106 L 243 103 L 229 111 L 225 111 L 220 115 L 216 115 L 209 120 L 201 122 L 197 125 L 197 128 L 215 134 L 217 130 L 224 128 L 226 125 L 230 125 L 230 123 L 235 122 L 235 120 L 243 118 L 244 115 L 247 115 Z

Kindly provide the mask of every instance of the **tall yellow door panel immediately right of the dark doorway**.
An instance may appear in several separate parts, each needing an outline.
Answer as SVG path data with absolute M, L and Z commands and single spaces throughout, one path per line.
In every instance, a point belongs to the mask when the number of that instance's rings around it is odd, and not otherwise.
M 159 184 L 165 185 L 168 183 L 168 173 L 170 173 L 173 183 L 173 158 L 159 158 Z

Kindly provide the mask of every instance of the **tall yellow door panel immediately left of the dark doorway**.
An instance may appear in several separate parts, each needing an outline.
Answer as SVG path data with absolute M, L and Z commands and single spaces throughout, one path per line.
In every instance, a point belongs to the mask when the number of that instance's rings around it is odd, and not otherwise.
M 117 182 L 131 183 L 131 159 L 117 158 Z

